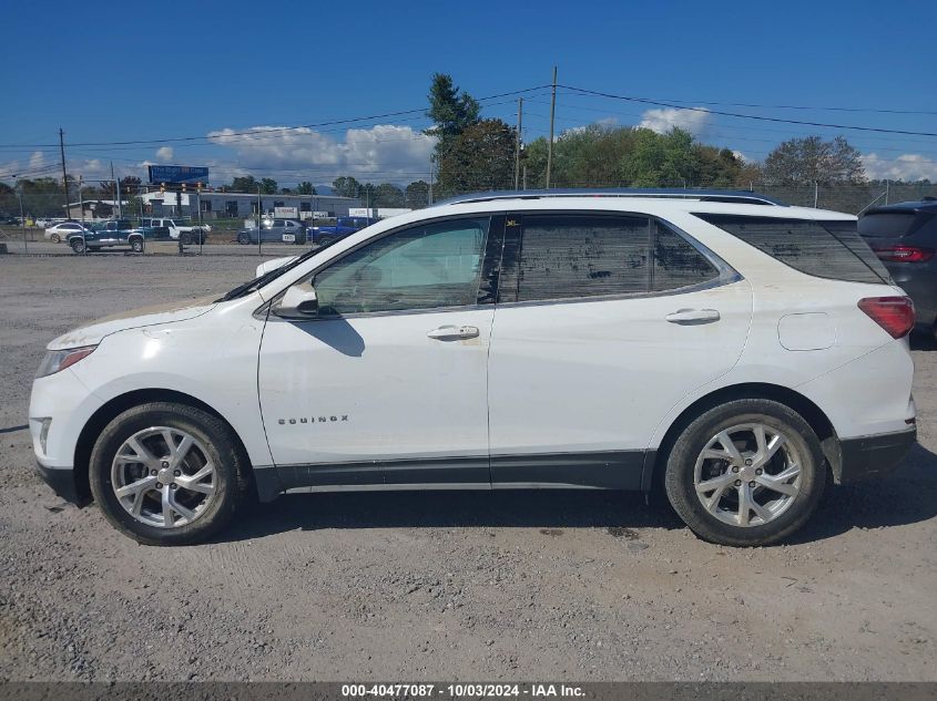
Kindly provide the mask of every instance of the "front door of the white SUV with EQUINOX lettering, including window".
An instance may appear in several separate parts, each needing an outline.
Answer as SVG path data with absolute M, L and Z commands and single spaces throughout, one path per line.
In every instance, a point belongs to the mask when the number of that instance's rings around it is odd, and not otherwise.
M 314 274 L 318 318 L 269 317 L 258 385 L 285 488 L 489 486 L 493 300 L 479 287 L 490 225 L 381 236 Z

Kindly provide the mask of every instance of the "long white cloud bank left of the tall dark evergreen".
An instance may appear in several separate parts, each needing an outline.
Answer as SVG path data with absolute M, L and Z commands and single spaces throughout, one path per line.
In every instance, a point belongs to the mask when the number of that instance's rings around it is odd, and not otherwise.
M 426 177 L 420 174 L 429 169 L 429 156 L 436 145 L 432 136 L 393 124 L 352 128 L 343 141 L 309 128 L 283 130 L 254 126 L 246 135 L 236 135 L 232 128 L 210 132 L 212 143 L 237 154 L 236 165 L 221 168 L 220 177 L 213 175 L 212 179 L 227 181 L 232 174 L 253 173 L 257 177 L 278 175 L 284 182 L 330 183 L 337 175 L 409 182 Z

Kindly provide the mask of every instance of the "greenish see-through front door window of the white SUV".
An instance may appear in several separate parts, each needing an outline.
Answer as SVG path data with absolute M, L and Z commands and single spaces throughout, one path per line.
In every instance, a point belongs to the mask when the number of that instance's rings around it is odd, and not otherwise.
M 489 224 L 422 224 L 352 251 L 315 276 L 319 316 L 475 305 Z

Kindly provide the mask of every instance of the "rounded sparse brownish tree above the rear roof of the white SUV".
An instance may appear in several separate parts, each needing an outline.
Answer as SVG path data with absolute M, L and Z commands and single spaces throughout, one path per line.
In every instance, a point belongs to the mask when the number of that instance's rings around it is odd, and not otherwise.
M 762 172 L 767 185 L 860 185 L 866 179 L 859 152 L 842 136 L 786 141 L 767 155 Z

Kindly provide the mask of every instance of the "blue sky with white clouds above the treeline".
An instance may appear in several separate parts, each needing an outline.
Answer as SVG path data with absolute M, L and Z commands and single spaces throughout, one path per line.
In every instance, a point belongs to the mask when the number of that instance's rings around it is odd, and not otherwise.
M 930 2 L 10 2 L 0 43 L 0 181 L 110 162 L 210 165 L 282 184 L 426 177 L 420 114 L 225 136 L 424 109 L 431 73 L 485 97 L 559 82 L 764 116 L 937 132 Z M 727 106 L 746 103 L 768 107 Z M 513 123 L 516 97 L 483 102 Z M 892 114 L 808 107 L 904 110 Z M 544 134 L 549 92 L 526 95 L 524 138 Z M 762 159 L 778 142 L 842 134 L 879 177 L 937 181 L 937 137 L 755 122 L 560 90 L 558 131 L 602 121 L 665 130 Z M 349 126 L 350 128 L 349 131 Z M 225 132 L 228 130 L 228 132 Z M 206 140 L 215 135 L 213 140 Z M 196 137 L 160 144 L 111 142 Z M 82 145 L 92 143 L 110 145 Z M 75 145 L 71 145 L 75 144 Z

